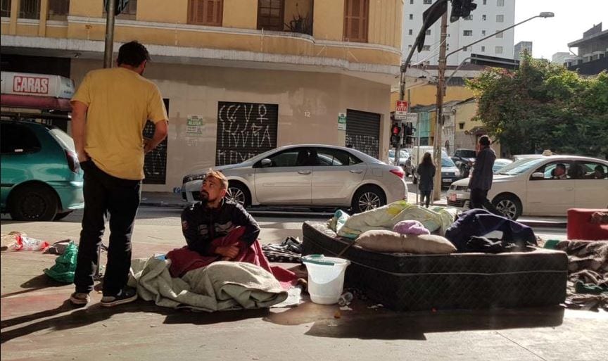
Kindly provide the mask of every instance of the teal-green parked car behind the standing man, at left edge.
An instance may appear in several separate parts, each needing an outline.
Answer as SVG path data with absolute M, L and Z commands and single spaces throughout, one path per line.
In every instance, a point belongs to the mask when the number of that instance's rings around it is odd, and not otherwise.
M 27 120 L 0 120 L 1 212 L 13 220 L 60 220 L 84 207 L 72 137 Z

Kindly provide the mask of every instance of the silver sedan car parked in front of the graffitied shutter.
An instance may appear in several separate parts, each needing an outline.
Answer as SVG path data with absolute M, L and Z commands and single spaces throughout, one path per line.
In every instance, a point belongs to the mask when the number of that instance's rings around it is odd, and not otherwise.
M 360 213 L 407 199 L 401 167 L 341 146 L 281 146 L 215 169 L 228 178 L 227 196 L 245 207 L 331 207 Z M 182 197 L 186 201 L 198 201 L 206 171 L 184 177 Z

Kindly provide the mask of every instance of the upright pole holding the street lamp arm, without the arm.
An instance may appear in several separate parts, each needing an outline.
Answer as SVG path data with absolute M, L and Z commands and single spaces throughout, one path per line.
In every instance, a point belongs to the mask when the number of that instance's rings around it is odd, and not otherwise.
M 443 87 L 445 83 L 445 49 L 447 48 L 446 39 L 448 37 L 448 13 L 441 16 L 441 37 L 439 45 L 439 68 L 437 77 L 437 110 L 435 112 L 435 141 L 433 147 L 433 162 L 436 172 L 433 188 L 433 201 L 441 198 L 441 132 L 443 128 Z

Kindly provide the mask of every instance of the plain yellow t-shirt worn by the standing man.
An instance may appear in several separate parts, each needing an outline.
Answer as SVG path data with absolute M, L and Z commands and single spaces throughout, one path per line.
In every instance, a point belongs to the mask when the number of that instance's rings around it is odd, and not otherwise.
M 167 120 L 156 84 L 126 68 L 92 70 L 72 97 L 86 104 L 84 150 L 103 172 L 144 179 L 146 120 Z

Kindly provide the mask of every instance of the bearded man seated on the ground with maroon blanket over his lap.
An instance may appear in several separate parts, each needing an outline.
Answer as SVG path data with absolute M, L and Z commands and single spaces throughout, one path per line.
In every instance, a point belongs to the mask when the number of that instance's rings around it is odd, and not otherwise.
M 187 246 L 167 253 L 170 272 L 181 277 L 217 260 L 233 260 L 258 265 L 283 283 L 295 283 L 293 272 L 270 267 L 262 252 L 260 226 L 239 203 L 226 199 L 228 180 L 210 170 L 201 186 L 201 202 L 182 212 L 182 232 Z

